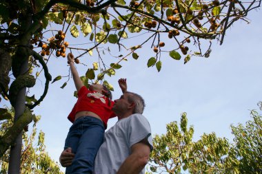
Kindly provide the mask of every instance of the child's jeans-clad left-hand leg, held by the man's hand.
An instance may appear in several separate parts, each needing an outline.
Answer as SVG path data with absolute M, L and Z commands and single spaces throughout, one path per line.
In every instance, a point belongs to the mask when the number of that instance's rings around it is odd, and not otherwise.
M 72 153 L 77 153 L 77 146 L 79 144 L 79 140 L 82 135 L 81 131 L 82 122 L 81 118 L 77 119 L 74 124 L 69 129 L 68 136 L 66 137 L 66 142 L 64 149 L 70 147 L 72 149 Z M 72 173 L 72 165 L 66 167 L 66 174 Z

